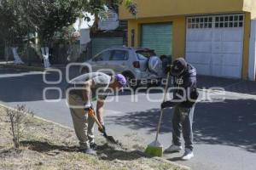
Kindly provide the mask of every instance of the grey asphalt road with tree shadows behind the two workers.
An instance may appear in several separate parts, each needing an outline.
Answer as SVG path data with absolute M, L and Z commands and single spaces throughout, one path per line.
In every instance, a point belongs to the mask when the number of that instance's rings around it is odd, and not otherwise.
M 65 75 L 63 75 L 64 77 Z M 46 75 L 47 80 L 57 81 L 54 73 Z M 207 78 L 205 78 L 207 79 Z M 207 80 L 209 82 L 209 80 Z M 206 80 L 200 86 L 209 87 Z M 212 85 L 230 87 L 237 80 L 212 81 Z M 26 105 L 36 115 L 50 121 L 73 127 L 65 95 L 59 101 L 46 102 L 43 99 L 45 88 L 61 88 L 65 91 L 66 81 L 46 84 L 41 72 L 13 71 L 0 68 L 0 101 L 9 106 Z M 207 92 L 209 93 L 209 92 Z M 201 97 L 204 95 L 201 92 Z M 215 98 L 223 97 L 211 92 Z M 57 99 L 56 90 L 46 93 L 47 99 Z M 114 101 L 105 106 L 105 122 L 108 131 L 121 140 L 123 135 L 137 134 L 144 145 L 152 142 L 159 118 L 160 103 L 149 102 L 161 99 L 162 94 L 145 91 L 133 96 L 124 93 L 110 97 Z M 180 161 L 183 153 L 166 155 L 166 159 L 197 170 L 255 170 L 256 167 L 256 97 L 245 94 L 226 93 L 224 101 L 203 99 L 195 108 L 195 157 L 190 161 Z M 160 142 L 168 147 L 172 142 L 172 110 L 166 110 L 161 127 Z

